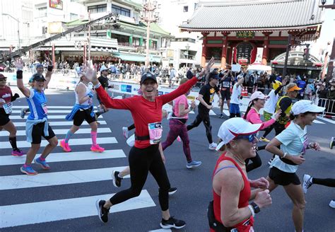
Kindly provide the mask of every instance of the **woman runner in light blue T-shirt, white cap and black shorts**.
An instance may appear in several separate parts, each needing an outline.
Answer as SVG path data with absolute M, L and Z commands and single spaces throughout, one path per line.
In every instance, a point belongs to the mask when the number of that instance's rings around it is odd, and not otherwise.
M 303 231 L 305 197 L 301 182 L 296 174 L 298 165 L 305 162 L 307 149 L 319 151 L 317 142 L 309 142 L 307 125 L 311 125 L 317 118 L 317 113 L 324 108 L 314 105 L 310 100 L 300 100 L 292 106 L 290 124 L 286 129 L 266 145 L 266 151 L 274 153 L 276 157 L 271 162 L 268 180 L 269 190 L 282 185 L 286 194 L 293 202 L 293 223 L 295 231 Z M 278 147 L 281 149 L 278 149 Z

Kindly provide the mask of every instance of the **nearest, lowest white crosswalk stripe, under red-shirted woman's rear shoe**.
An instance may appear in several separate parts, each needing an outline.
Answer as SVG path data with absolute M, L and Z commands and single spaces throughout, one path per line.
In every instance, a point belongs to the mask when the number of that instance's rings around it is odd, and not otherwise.
M 98 195 L 3 206 L 0 207 L 0 228 L 78 219 L 86 216 L 96 216 L 98 220 L 97 209 L 95 208 L 96 200 L 110 197 L 112 195 Z M 155 202 L 153 202 L 147 190 L 142 190 L 139 197 L 114 205 L 110 209 L 110 213 L 147 207 L 155 207 Z M 14 218 L 13 215 L 15 215 Z

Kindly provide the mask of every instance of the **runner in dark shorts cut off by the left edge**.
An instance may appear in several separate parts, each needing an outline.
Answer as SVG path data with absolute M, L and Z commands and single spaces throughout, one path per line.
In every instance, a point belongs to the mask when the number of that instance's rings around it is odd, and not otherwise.
M 16 127 L 13 122 L 9 119 L 9 115 L 12 112 L 13 101 L 20 96 L 18 93 L 14 94 L 11 91 L 11 87 L 6 85 L 7 77 L 0 74 L 0 131 L 5 129 L 9 132 L 9 142 L 13 151 L 12 156 L 23 156 L 24 151 L 18 149 L 16 144 Z

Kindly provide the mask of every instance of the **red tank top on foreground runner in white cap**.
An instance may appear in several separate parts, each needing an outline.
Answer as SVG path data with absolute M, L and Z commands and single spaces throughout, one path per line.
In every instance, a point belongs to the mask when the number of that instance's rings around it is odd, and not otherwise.
M 233 158 L 226 157 L 225 153 L 223 153 L 220 156 L 220 158 L 218 158 L 218 161 L 216 162 L 216 166 L 214 168 L 213 177 L 214 177 L 214 174 L 216 173 L 216 169 L 218 168 L 218 164 L 221 163 L 221 161 L 231 161 L 231 162 L 233 162 L 234 165 L 236 166 L 236 168 L 242 174 L 244 187 L 240 191 L 240 199 L 238 200 L 238 208 L 247 207 L 249 205 L 249 199 L 250 199 L 250 195 L 251 195 L 251 188 L 250 188 L 249 179 L 247 178 L 247 176 L 245 176 L 245 173 L 243 173 L 242 169 L 240 168 L 240 166 L 237 165 L 237 163 L 233 160 Z M 216 220 L 218 220 L 222 223 L 222 221 L 221 221 L 221 196 L 217 195 L 216 192 L 214 192 L 214 190 L 213 190 L 213 208 L 214 208 L 214 216 L 215 216 Z M 245 219 L 244 221 L 241 221 L 239 224 L 236 224 L 235 226 L 233 226 L 233 228 L 237 228 L 238 231 L 240 231 L 240 232 L 249 232 L 250 227 L 254 224 L 254 218 L 251 216 L 250 221 L 249 221 L 249 225 L 247 225 L 247 226 L 243 225 L 245 223 L 245 221 L 247 221 L 247 220 L 248 219 Z M 211 229 L 211 231 L 213 231 L 213 230 Z

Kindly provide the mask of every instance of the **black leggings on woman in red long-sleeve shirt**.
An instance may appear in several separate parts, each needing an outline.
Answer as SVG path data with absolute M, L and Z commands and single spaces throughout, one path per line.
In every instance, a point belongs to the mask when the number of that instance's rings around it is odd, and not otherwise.
M 169 209 L 168 190 L 170 189 L 170 182 L 158 150 L 158 144 L 148 146 L 145 149 L 138 149 L 133 146 L 129 151 L 129 168 L 131 186 L 127 190 L 117 192 L 110 198 L 110 202 L 113 205 L 119 204 L 127 201 L 127 199 L 139 196 L 150 171 L 159 186 L 160 208 L 162 211 Z

